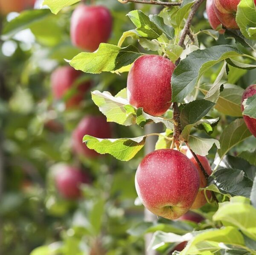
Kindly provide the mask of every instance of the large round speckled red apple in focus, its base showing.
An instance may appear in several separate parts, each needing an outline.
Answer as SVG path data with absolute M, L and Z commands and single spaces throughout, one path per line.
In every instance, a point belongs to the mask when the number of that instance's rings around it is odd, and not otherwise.
M 149 211 L 175 220 L 192 206 L 199 189 L 199 175 L 183 153 L 160 149 L 141 161 L 135 175 L 135 187 Z

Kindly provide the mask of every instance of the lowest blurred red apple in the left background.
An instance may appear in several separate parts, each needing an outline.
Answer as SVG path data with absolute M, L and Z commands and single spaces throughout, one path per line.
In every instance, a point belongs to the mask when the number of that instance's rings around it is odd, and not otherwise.
M 55 176 L 58 192 L 67 199 L 76 199 L 81 195 L 80 184 L 90 183 L 90 178 L 85 172 L 73 166 L 65 166 Z

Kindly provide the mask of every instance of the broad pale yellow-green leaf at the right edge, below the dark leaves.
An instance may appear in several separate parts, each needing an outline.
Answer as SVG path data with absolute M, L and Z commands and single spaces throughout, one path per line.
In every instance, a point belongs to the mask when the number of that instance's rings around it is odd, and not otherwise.
M 235 226 L 256 240 L 256 208 L 247 201 L 231 198 L 230 202 L 223 203 L 213 215 L 214 221 L 221 221 L 225 226 Z

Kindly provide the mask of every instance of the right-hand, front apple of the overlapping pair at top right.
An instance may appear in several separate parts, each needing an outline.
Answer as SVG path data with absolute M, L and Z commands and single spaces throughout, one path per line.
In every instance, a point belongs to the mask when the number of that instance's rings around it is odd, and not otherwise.
M 227 29 L 239 29 L 236 23 L 236 11 L 240 0 L 213 0 L 218 19 Z

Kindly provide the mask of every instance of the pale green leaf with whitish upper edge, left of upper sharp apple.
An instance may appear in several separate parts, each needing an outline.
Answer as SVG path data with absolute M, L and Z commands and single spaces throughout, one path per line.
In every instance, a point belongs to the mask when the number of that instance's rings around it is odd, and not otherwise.
M 126 89 L 121 90 L 127 95 Z M 119 92 L 120 93 L 120 92 Z M 120 97 L 121 94 L 113 97 L 109 92 L 92 92 L 92 100 L 99 107 L 99 110 L 107 117 L 107 121 L 129 126 L 136 123 L 136 110 L 129 105 L 128 100 Z

